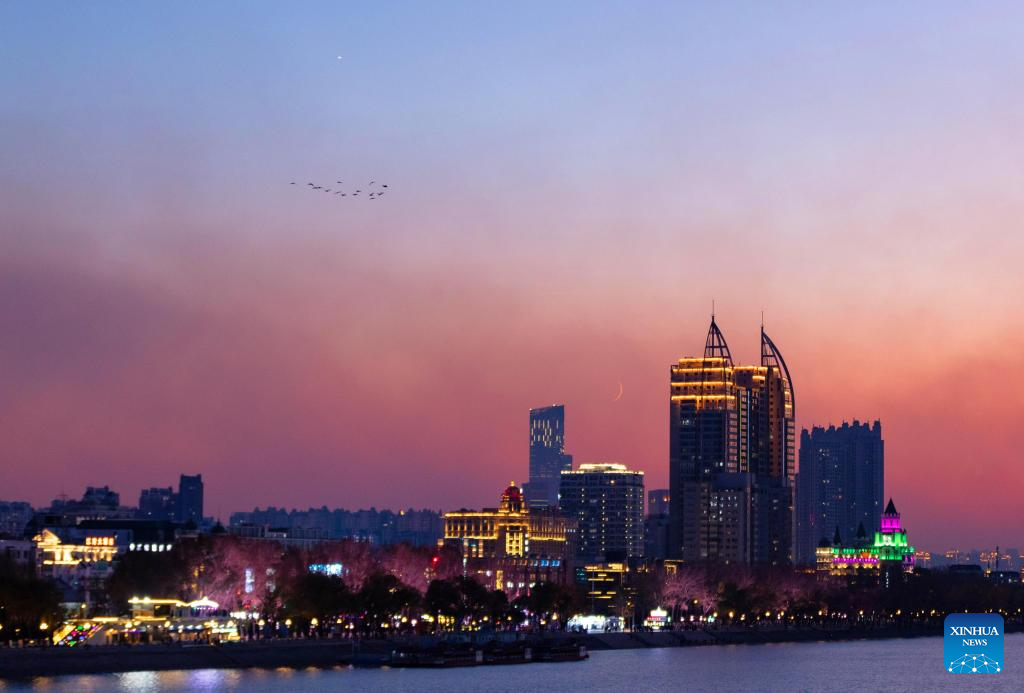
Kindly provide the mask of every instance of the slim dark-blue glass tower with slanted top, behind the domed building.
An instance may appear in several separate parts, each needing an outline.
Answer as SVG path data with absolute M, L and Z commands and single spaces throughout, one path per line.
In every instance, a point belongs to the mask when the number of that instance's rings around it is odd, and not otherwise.
M 529 481 L 523 485 L 530 508 L 557 508 L 559 475 L 572 469 L 565 453 L 565 405 L 529 410 Z

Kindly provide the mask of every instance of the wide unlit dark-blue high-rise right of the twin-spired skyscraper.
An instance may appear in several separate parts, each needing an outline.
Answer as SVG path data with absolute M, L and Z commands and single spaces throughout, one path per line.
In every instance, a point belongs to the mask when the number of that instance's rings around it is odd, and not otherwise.
M 813 563 L 815 548 L 837 528 L 849 538 L 858 525 L 881 526 L 884 479 L 885 442 L 878 421 L 804 429 L 797 477 L 797 560 Z

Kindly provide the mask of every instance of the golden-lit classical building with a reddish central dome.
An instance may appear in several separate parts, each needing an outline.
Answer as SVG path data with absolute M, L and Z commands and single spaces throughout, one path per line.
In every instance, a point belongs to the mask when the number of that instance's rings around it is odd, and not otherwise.
M 565 582 L 575 523 L 553 510 L 527 508 L 515 482 L 498 508 L 444 514 L 439 546 L 458 549 L 463 572 L 515 594 L 535 582 Z

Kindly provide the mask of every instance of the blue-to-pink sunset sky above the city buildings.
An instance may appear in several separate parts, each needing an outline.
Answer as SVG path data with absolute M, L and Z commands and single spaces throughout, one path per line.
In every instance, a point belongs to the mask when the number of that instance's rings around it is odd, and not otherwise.
M 0 7 L 4 500 L 482 507 L 548 402 L 667 486 L 714 300 L 916 546 L 1024 544 L 1019 7 Z

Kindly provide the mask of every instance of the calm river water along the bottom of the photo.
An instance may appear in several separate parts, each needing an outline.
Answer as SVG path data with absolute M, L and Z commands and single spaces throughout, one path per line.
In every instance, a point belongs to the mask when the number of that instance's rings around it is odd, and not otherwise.
M 942 639 L 728 645 L 593 652 L 584 662 L 453 669 L 200 669 L 0 681 L 0 691 L 184 693 L 366 691 L 1021 691 L 1024 634 L 1007 636 L 1001 674 L 948 674 Z

